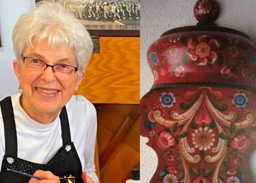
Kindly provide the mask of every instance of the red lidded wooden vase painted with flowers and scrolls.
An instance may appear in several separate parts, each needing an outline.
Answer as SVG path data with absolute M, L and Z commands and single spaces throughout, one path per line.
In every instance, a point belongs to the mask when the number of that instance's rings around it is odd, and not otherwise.
M 218 16 L 214 1 L 198 1 L 194 13 L 198 25 L 148 48 L 155 82 L 140 100 L 140 135 L 159 160 L 151 182 L 254 182 L 256 46 L 206 23 Z

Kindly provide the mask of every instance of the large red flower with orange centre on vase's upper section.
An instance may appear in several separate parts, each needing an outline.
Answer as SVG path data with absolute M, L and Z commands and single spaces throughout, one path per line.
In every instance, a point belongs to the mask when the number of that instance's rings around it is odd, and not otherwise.
M 216 51 L 219 44 L 217 40 L 210 40 L 207 35 L 199 36 L 198 39 L 191 38 L 187 46 L 189 48 L 187 50 L 188 56 L 198 65 L 204 66 L 207 62 L 213 64 L 217 59 Z

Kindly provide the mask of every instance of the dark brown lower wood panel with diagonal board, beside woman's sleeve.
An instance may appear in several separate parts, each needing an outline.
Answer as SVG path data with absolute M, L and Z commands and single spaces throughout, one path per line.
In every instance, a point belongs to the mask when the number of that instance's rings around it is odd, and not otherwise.
M 135 108 L 134 108 L 135 107 Z M 98 131 L 97 142 L 99 148 L 99 169 L 101 183 L 125 182 L 130 179 L 130 170 L 139 168 L 140 162 L 140 125 L 139 119 L 129 119 L 131 112 L 139 108 L 139 105 L 111 105 L 95 104 L 97 111 Z M 124 122 L 127 119 L 133 123 L 124 130 Z M 108 150 L 117 138 L 120 131 L 125 135 L 122 141 L 114 147 L 114 151 Z M 108 155 L 106 155 L 108 154 Z M 103 157 L 108 157 L 102 161 Z M 103 164 L 102 164 L 103 162 Z

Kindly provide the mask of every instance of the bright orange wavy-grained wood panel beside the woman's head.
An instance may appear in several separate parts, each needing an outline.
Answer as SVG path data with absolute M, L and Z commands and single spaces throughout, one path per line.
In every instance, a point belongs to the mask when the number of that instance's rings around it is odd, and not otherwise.
M 139 38 L 99 38 L 78 94 L 91 103 L 140 103 Z

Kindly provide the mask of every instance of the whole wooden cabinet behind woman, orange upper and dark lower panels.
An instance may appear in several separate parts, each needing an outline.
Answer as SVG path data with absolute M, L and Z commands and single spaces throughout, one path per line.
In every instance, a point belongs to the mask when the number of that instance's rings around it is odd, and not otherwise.
M 100 182 L 121 183 L 140 166 L 140 40 L 99 38 L 99 48 L 78 93 L 97 110 Z

